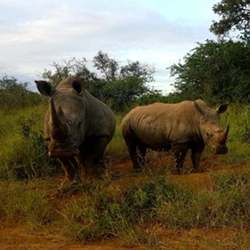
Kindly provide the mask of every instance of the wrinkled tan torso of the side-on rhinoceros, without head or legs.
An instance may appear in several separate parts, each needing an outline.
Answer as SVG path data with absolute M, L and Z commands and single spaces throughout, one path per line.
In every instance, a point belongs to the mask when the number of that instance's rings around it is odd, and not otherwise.
M 192 101 L 154 103 L 131 110 L 122 128 L 124 136 L 133 133 L 147 145 L 161 145 L 189 141 L 199 130 L 199 121 Z

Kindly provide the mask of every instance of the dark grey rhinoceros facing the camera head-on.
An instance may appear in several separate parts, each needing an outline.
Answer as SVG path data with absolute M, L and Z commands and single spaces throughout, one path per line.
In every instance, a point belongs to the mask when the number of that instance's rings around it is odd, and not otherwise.
M 115 131 L 114 113 L 92 96 L 79 78 L 69 77 L 56 88 L 47 81 L 35 82 L 39 92 L 50 97 L 45 140 L 49 156 L 62 163 L 65 181 L 79 182 L 83 165 L 92 173 L 101 172 L 105 148 Z

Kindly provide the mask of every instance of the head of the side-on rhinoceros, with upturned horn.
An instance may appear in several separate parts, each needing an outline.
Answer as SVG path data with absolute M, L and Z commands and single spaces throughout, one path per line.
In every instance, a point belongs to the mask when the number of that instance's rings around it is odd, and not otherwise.
M 196 100 L 194 104 L 200 113 L 200 131 L 205 144 L 208 144 L 216 154 L 226 154 L 229 125 L 222 129 L 219 125 L 219 116 L 227 110 L 228 104 L 222 104 L 217 109 L 208 107 L 202 100 Z

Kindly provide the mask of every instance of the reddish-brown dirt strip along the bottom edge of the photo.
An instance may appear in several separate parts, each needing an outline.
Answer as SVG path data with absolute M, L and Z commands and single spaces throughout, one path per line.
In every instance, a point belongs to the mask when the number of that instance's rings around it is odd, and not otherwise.
M 250 249 L 250 232 L 234 229 L 166 230 L 153 228 L 161 239 L 156 249 Z M 160 236 L 159 236 L 160 235 Z M 141 250 L 143 246 L 129 246 L 119 240 L 94 243 L 75 243 L 53 232 L 39 232 L 27 227 L 0 229 L 1 250 Z M 146 249 L 151 249 L 147 247 Z

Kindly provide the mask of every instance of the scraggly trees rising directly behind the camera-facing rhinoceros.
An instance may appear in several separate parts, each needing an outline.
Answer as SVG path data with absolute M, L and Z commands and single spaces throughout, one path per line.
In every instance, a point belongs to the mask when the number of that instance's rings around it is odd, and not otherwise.
M 99 51 L 93 58 L 94 72 L 87 67 L 85 58 L 75 58 L 63 63 L 53 63 L 51 70 L 45 70 L 44 79 L 57 85 L 68 76 L 78 76 L 85 82 L 85 88 L 95 97 L 120 111 L 140 96 L 154 92 L 147 85 L 153 81 L 154 70 L 148 65 L 128 62 L 120 65 L 108 54 Z

